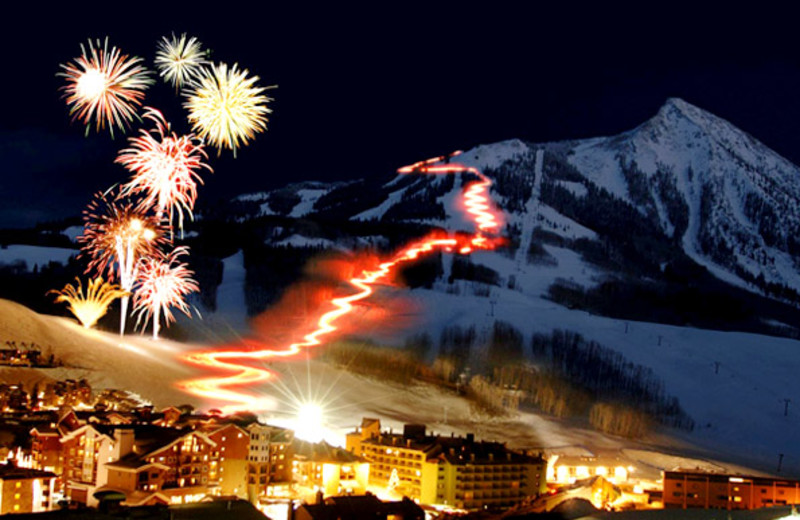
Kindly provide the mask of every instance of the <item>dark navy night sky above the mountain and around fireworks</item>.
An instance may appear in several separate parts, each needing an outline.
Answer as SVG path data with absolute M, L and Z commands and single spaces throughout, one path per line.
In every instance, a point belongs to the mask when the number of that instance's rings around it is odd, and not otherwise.
M 212 155 L 200 203 L 382 175 L 513 137 L 615 134 L 670 96 L 800 162 L 800 45 L 790 12 L 607 2 L 18 4 L 0 31 L 0 227 L 78 215 L 93 192 L 127 177 L 113 164 L 125 138 L 84 137 L 60 99 L 59 64 L 90 37 L 108 36 L 150 64 L 161 36 L 187 32 L 215 60 L 278 85 L 269 131 L 235 160 Z M 152 87 L 146 103 L 188 129 L 171 87 Z

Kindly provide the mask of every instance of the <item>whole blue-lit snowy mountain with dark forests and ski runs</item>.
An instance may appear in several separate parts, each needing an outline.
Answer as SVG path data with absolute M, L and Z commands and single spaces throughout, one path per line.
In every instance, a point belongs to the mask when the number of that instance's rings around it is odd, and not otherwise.
M 784 454 L 800 474 L 792 448 L 800 420 L 784 416 L 786 399 L 800 402 L 796 166 L 678 99 L 618 136 L 510 140 L 447 160 L 494 180 L 508 245 L 423 259 L 403 274 L 409 290 L 377 295 L 380 307 L 402 316 L 356 324 L 356 334 L 392 345 L 427 334 L 441 348 L 454 328 L 473 329 L 465 363 L 479 368 L 498 322 L 519 331 L 532 363 L 541 361 L 536 337 L 572 331 L 651 374 L 664 400 L 677 398 L 695 424 L 686 434 L 692 443 L 765 469 Z M 202 215 L 186 241 L 203 291 L 194 303 L 206 319 L 189 327 L 207 337 L 248 334 L 246 317 L 302 278 L 328 283 L 329 294 L 347 290 L 331 282 L 330 266 L 309 276 L 305 266 L 319 257 L 389 254 L 431 228 L 473 232 L 461 205 L 468 180 L 390 174 L 300 183 Z M 305 315 L 314 301 L 298 298 Z M 365 319 L 376 314 L 364 311 Z

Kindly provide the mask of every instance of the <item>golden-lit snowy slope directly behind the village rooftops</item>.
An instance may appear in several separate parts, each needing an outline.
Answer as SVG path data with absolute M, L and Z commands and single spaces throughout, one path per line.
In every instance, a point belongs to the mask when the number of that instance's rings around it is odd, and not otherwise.
M 85 378 L 94 391 L 125 389 L 157 408 L 187 403 L 207 410 L 225 404 L 200 400 L 176 387 L 179 381 L 208 375 L 178 359 L 182 353 L 206 348 L 204 345 L 153 341 L 137 334 L 120 338 L 114 333 L 86 330 L 72 320 L 39 315 L 2 299 L 0 341 L 34 343 L 67 365 L 36 369 L 0 367 L 0 381 L 22 382 L 30 388 L 45 381 Z M 345 433 L 360 424 L 363 417 L 380 417 L 386 428 L 399 430 L 404 423 L 422 422 L 440 434 L 474 433 L 478 439 L 499 440 L 514 448 L 558 452 L 565 446 L 582 450 L 634 448 L 636 451 L 631 453 L 638 454 L 635 458 L 646 460 L 642 464 L 653 468 L 672 469 L 682 464 L 751 471 L 738 466 L 735 459 L 733 463 L 717 460 L 713 454 L 680 439 L 656 436 L 647 443 L 624 440 L 531 413 L 489 417 L 452 392 L 423 383 L 408 386 L 365 379 L 318 361 L 287 361 L 276 363 L 273 369 L 277 372 L 273 383 L 256 390 L 272 405 L 263 418 L 270 424 L 294 428 L 295 407 L 315 397 L 330 412 L 324 418 L 324 431 L 317 434 L 335 445 L 343 446 Z M 369 388 L 367 394 L 365 387 Z M 657 476 L 655 473 L 651 478 Z

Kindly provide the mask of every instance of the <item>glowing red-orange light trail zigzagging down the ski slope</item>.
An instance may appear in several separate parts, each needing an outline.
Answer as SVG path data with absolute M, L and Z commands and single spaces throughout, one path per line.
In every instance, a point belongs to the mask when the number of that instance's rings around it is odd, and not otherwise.
M 451 157 L 459 153 L 456 152 Z M 319 318 L 317 328 L 306 334 L 300 342 L 292 343 L 283 348 L 267 348 L 260 342 L 246 340 L 241 345 L 185 354 L 183 359 L 189 363 L 215 371 L 227 372 L 230 375 L 190 379 L 178 383 L 178 387 L 199 397 L 214 401 L 227 401 L 230 404 L 222 407 L 223 413 L 255 412 L 269 409 L 268 400 L 253 393 L 239 390 L 240 387 L 257 385 L 275 377 L 272 371 L 257 368 L 248 364 L 248 361 L 252 363 L 253 361 L 267 361 L 274 358 L 290 358 L 304 349 L 322 344 L 325 336 L 329 336 L 337 330 L 337 320 L 352 312 L 355 308 L 354 304 L 369 298 L 374 292 L 375 285 L 388 283 L 391 275 L 397 271 L 398 265 L 412 262 L 420 256 L 436 250 L 457 251 L 460 254 L 468 254 L 479 249 L 494 249 L 502 244 L 504 240 L 498 236 L 501 227 L 500 214 L 492 208 L 489 198 L 489 188 L 492 185 L 491 179 L 483 175 L 477 168 L 457 163 L 442 163 L 445 160 L 444 156 L 435 157 L 404 166 L 398 172 L 425 174 L 472 173 L 477 176 L 479 180 L 469 183 L 462 194 L 464 211 L 477 225 L 477 232 L 474 235 L 443 236 L 441 233 L 432 233 L 405 246 L 390 260 L 380 263 L 375 270 L 364 270 L 360 276 L 347 280 L 347 283 L 356 292 L 348 296 L 331 299 L 330 306 L 332 309 Z

